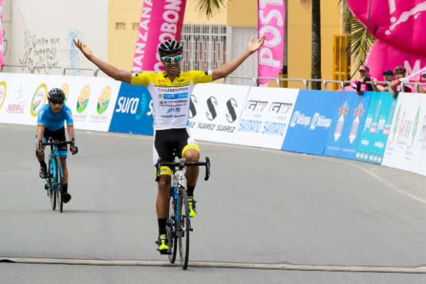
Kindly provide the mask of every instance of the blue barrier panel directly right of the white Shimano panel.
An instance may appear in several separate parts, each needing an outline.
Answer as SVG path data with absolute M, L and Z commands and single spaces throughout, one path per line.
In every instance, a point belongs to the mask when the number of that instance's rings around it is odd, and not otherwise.
M 282 150 L 324 154 L 335 110 L 343 99 L 343 92 L 301 90 Z

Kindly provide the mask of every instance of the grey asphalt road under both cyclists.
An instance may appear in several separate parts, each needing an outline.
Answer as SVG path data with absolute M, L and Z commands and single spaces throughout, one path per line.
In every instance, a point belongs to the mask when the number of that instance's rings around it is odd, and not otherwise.
M 165 260 L 155 251 L 152 138 L 78 131 L 73 199 L 49 209 L 34 128 L 0 125 L 0 259 Z M 191 261 L 426 264 L 426 178 L 345 161 L 201 143 Z M 41 261 L 43 262 L 43 261 Z M 0 263 L 0 283 L 425 283 L 426 274 Z

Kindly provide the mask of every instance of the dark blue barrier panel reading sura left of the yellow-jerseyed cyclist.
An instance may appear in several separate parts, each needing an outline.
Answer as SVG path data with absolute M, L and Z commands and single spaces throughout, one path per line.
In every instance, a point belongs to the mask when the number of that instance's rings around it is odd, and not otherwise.
M 110 132 L 153 135 L 153 101 L 146 86 L 122 83 Z

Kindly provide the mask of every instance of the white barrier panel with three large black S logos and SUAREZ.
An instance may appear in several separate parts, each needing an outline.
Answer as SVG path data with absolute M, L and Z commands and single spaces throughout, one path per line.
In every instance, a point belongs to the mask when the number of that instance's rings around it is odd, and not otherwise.
M 191 95 L 190 133 L 194 139 L 235 143 L 249 86 L 197 84 Z

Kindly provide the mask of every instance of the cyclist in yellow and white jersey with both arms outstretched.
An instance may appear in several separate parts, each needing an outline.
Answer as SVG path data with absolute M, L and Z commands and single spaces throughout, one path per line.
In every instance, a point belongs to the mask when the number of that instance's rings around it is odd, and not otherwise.
M 148 87 L 154 103 L 154 145 L 153 161 L 158 158 L 162 161 L 172 161 L 172 150 L 179 151 L 186 161 L 197 162 L 200 158 L 200 149 L 197 142 L 192 139 L 188 131 L 188 116 L 190 107 L 190 95 L 192 88 L 197 83 L 207 83 L 226 77 L 237 69 L 251 54 L 254 54 L 263 45 L 265 37 L 257 40 L 251 38 L 247 49 L 231 62 L 224 64 L 212 71 L 181 71 L 182 46 L 176 40 L 166 40 L 159 46 L 159 56 L 164 64 L 164 72 L 142 72 L 132 75 L 129 71 L 121 71 L 96 56 L 87 45 L 80 40 L 74 43 L 88 60 L 93 62 L 100 70 L 111 78 L 134 85 Z M 168 195 L 171 189 L 172 171 L 168 167 L 161 167 L 161 176 L 158 182 L 157 193 L 157 217 L 159 226 L 159 238 L 157 250 L 168 252 L 169 246 L 166 239 L 166 219 L 168 217 Z M 188 201 L 190 217 L 196 217 L 194 188 L 199 176 L 198 167 L 187 169 Z

